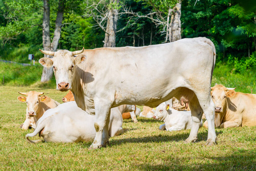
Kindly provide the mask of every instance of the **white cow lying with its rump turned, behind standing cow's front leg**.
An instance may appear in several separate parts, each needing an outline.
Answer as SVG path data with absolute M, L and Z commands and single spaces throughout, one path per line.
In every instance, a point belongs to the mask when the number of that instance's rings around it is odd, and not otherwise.
M 134 105 L 120 105 L 111 109 L 109 119 L 109 136 L 113 137 L 123 133 L 123 118 L 121 113 L 130 112 Z M 95 116 L 89 115 L 76 105 L 75 101 L 60 104 L 54 109 L 49 109 L 36 123 L 33 133 L 26 135 L 27 141 L 37 143 L 41 140 L 31 141 L 39 133 L 46 142 L 72 143 L 78 141 L 91 141 L 95 137 Z

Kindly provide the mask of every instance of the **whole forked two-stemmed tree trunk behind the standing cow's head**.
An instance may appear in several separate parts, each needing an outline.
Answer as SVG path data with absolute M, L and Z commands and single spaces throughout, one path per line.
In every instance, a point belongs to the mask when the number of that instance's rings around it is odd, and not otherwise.
M 55 31 L 52 43 L 50 40 L 50 5 L 48 0 L 43 0 L 44 14 L 43 14 L 43 48 L 46 51 L 56 51 L 62 26 L 62 19 L 64 13 L 64 4 L 66 0 L 59 0 L 58 13 L 55 21 Z M 45 55 L 46 58 L 52 58 L 50 55 Z M 48 82 L 52 78 L 52 67 L 43 67 L 41 82 Z

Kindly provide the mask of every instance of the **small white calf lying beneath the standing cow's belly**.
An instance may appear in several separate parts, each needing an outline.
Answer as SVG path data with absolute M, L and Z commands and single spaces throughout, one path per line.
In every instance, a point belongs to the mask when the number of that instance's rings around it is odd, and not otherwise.
M 170 108 L 169 104 L 161 103 L 156 107 L 153 119 L 164 121 L 159 129 L 166 131 L 180 131 L 192 128 L 192 116 L 190 111 L 177 111 Z M 201 123 L 202 124 L 202 123 Z

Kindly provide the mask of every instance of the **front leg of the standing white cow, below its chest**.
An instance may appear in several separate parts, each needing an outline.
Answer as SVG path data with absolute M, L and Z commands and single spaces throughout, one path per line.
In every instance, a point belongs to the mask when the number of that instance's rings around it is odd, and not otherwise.
M 110 107 L 106 101 L 95 100 L 95 139 L 89 149 L 97 149 L 106 146 L 109 135 L 108 135 L 108 123 L 110 116 Z

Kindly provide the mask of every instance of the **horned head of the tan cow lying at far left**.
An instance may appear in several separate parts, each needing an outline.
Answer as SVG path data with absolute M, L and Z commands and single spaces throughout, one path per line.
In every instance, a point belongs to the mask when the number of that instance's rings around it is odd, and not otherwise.
M 19 93 L 21 95 L 25 95 L 25 96 L 18 96 L 18 100 L 21 102 L 27 103 L 26 115 L 28 116 L 36 116 L 36 112 L 40 107 L 40 103 L 44 103 L 44 101 L 47 101 L 47 99 L 49 98 L 47 96 L 41 96 L 43 95 L 43 92 L 30 91 L 30 92 L 19 92 Z

